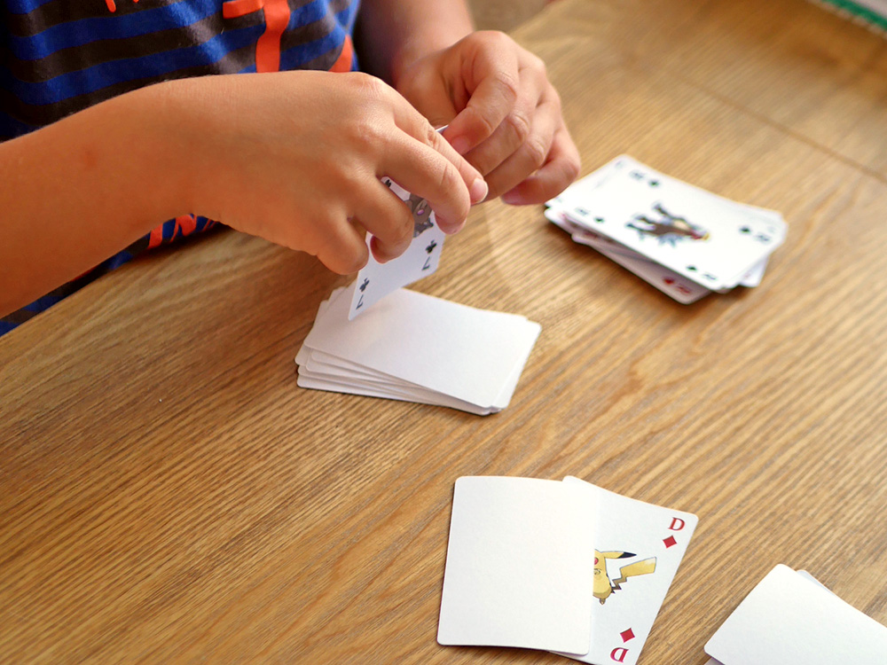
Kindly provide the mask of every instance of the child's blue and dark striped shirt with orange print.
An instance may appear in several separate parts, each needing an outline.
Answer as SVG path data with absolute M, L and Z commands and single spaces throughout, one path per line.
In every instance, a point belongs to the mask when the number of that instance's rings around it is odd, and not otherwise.
M 359 0 L 0 0 L 0 141 L 130 90 L 207 74 L 357 68 Z M 145 249 L 214 222 L 185 215 L 8 317 L 0 334 Z

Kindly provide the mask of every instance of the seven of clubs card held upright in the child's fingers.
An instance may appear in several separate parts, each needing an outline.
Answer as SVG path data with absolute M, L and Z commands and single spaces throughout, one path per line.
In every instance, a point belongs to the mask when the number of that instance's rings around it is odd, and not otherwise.
M 373 253 L 370 253 L 366 265 L 357 272 L 351 293 L 349 320 L 369 309 L 392 291 L 428 277 L 437 270 L 437 263 L 440 261 L 445 234 L 437 226 L 434 211 L 428 205 L 428 201 L 407 192 L 388 177 L 382 178 L 382 183 L 388 185 L 391 191 L 410 208 L 413 219 L 412 243 L 404 254 L 387 263 L 376 261 Z M 371 236 L 367 234 L 367 245 L 370 239 Z

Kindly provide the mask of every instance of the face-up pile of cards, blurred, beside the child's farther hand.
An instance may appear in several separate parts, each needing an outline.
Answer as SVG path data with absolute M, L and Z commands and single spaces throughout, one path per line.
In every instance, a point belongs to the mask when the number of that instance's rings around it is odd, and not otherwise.
M 757 286 L 787 232 L 773 210 L 746 206 L 623 155 L 546 204 L 579 244 L 684 304 Z

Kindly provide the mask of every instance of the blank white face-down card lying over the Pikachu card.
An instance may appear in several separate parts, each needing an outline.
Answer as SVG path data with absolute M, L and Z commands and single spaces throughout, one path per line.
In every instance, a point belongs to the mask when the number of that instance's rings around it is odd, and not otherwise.
M 567 483 L 459 478 L 437 641 L 585 653 L 594 515 Z

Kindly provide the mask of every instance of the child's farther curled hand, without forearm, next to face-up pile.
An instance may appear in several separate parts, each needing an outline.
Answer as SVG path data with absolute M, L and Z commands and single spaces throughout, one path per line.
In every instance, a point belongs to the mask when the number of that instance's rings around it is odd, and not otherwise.
M 579 172 L 545 65 L 502 33 L 475 32 L 406 66 L 397 89 L 486 177 L 490 196 L 541 203 Z

